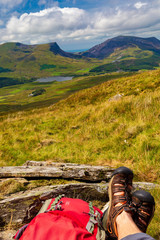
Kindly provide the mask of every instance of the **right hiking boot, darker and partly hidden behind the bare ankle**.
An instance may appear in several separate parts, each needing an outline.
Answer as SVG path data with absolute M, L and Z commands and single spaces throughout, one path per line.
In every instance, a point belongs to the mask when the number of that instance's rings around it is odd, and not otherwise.
M 135 191 L 132 194 L 133 221 L 137 227 L 146 232 L 155 210 L 155 201 L 149 192 L 144 190 Z

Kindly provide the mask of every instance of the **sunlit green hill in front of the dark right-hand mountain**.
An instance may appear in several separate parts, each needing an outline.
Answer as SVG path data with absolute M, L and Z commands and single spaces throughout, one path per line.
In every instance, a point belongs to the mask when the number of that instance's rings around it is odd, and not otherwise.
M 103 64 L 92 68 L 90 72 L 138 71 L 158 68 L 160 55 L 152 51 L 141 50 L 138 47 L 116 49 Z

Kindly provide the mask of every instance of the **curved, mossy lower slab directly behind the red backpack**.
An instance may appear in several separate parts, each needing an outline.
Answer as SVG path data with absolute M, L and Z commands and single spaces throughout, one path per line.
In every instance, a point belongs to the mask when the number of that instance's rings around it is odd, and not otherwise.
M 99 200 L 105 204 L 108 201 L 107 186 L 87 183 L 52 185 L 11 194 L 0 201 L 0 226 L 8 225 L 11 219 L 13 226 L 29 222 L 45 200 L 60 194 L 86 201 Z

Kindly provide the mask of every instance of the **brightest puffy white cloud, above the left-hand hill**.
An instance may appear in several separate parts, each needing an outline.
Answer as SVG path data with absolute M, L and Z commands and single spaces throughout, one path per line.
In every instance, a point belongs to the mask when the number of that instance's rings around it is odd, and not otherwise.
M 59 38 L 76 29 L 85 28 L 86 17 L 85 11 L 78 8 L 53 7 L 36 13 L 25 13 L 20 18 L 12 17 L 6 30 L 10 34 L 47 34 Z

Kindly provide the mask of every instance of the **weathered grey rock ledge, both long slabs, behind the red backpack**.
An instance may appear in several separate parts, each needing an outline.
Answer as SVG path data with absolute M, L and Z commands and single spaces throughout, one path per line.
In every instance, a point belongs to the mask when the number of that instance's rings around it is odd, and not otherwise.
M 8 226 L 18 229 L 28 223 L 39 212 L 45 200 L 60 194 L 86 201 L 96 200 L 101 206 L 105 205 L 108 201 L 108 180 L 112 171 L 110 167 L 34 161 L 28 161 L 20 167 L 1 167 L 0 184 L 4 186 L 7 181 L 12 183 L 14 178 L 20 190 L 21 186 L 29 184 L 31 179 L 64 178 L 69 181 L 67 184 L 41 186 L 16 193 L 6 191 L 0 200 L 0 231 Z M 9 180 L 6 177 L 9 177 Z M 71 183 L 70 180 L 73 179 L 82 182 Z M 138 189 L 157 187 L 159 186 L 152 183 L 134 183 L 134 188 Z

